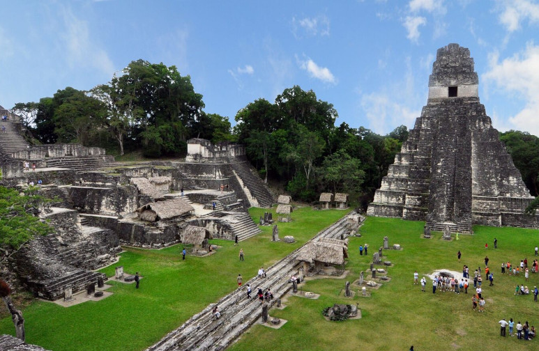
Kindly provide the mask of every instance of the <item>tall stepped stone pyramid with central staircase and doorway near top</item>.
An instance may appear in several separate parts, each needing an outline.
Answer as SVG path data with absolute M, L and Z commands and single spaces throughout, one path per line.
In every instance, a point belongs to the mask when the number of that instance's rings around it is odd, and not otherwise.
M 473 224 L 538 228 L 533 200 L 478 97 L 469 49 L 436 53 L 429 96 L 367 214 L 426 221 L 433 231 Z

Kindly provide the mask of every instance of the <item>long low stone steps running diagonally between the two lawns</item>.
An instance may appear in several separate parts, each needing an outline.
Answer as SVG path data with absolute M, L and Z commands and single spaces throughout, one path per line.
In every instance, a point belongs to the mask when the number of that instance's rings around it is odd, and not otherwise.
M 351 231 L 356 231 L 359 226 L 357 224 L 354 225 L 355 228 L 351 228 L 348 219 L 348 216 L 340 219 L 324 231 L 319 232 L 312 240 L 319 240 L 321 237 L 335 239 L 347 237 Z M 296 249 L 269 267 L 266 270 L 267 278 L 254 277 L 245 282 L 245 285 L 250 284 L 252 287 L 254 298 L 248 299 L 245 295 L 245 288 L 238 288 L 217 302 L 221 312 L 219 319 L 212 318 L 211 311 L 215 304 L 211 304 L 146 351 L 225 350 L 261 317 L 262 305 L 255 297 L 257 288 L 264 291 L 271 287 L 274 299 L 268 302 L 268 309 L 291 289 L 292 286 L 288 281 L 291 274 L 297 274 L 300 267 L 299 261 L 296 259 L 300 250 L 301 248 Z

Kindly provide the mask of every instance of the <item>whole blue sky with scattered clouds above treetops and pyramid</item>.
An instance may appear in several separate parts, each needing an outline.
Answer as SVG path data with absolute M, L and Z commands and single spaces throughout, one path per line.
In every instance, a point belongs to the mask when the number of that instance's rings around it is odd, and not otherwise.
M 436 49 L 468 47 L 499 130 L 539 135 L 538 0 L 0 0 L 0 104 L 109 81 L 130 61 L 176 65 L 208 113 L 312 89 L 342 122 L 413 127 Z

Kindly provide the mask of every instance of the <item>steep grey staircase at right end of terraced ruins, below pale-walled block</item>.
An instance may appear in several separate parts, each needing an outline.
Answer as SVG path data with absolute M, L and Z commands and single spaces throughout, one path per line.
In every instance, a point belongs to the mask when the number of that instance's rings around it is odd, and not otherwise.
M 261 208 L 271 208 L 275 203 L 275 198 L 269 192 L 264 182 L 255 176 L 245 157 L 228 157 L 228 162 L 236 175 L 241 178 L 243 185 L 249 189 L 251 196 L 257 199 Z

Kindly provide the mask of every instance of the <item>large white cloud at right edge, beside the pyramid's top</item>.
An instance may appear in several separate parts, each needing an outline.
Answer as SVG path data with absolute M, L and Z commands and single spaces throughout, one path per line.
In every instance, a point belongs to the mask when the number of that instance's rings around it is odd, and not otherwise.
M 503 93 L 514 94 L 525 106 L 509 122 L 518 130 L 539 135 L 539 45 L 530 42 L 519 54 L 499 61 L 499 54 L 489 55 L 489 70 L 482 76 Z

